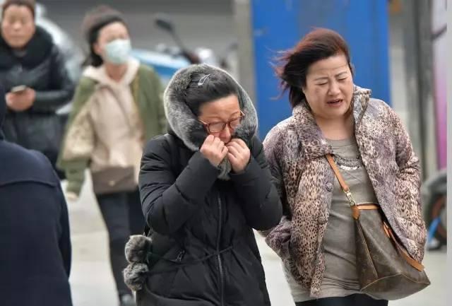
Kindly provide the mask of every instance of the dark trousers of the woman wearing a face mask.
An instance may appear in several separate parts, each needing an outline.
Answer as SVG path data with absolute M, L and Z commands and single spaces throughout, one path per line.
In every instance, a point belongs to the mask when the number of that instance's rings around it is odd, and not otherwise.
M 107 225 L 110 264 L 119 296 L 131 293 L 124 283 L 122 271 L 127 266 L 124 247 L 130 235 L 143 233 L 144 218 L 138 189 L 135 192 L 118 192 L 96 195 L 100 212 Z

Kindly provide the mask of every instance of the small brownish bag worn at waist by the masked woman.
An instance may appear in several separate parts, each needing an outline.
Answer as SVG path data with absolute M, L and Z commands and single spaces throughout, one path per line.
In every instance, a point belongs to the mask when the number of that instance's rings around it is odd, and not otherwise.
M 116 192 L 133 192 L 138 188 L 135 170 L 131 167 L 109 167 L 92 172 L 93 192 L 95 194 L 112 194 Z

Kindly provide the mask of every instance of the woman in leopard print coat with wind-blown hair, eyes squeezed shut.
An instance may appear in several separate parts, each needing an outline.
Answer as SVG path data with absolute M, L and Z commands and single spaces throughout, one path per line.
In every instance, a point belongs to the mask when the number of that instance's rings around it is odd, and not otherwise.
M 338 141 L 354 143 L 364 173 L 355 190 L 368 190 L 364 198 L 381 206 L 400 242 L 422 261 L 420 165 L 409 136 L 391 107 L 354 85 L 347 43 L 338 33 L 312 31 L 285 54 L 277 73 L 293 113 L 264 141 L 285 210 L 266 241 L 283 259 L 297 305 L 387 305 L 359 293 L 351 211 L 335 198 L 339 187 L 325 155 L 337 155 Z M 339 165 L 340 156 L 335 160 Z M 359 163 L 340 171 L 352 178 Z M 344 270 L 347 265 L 352 269 Z

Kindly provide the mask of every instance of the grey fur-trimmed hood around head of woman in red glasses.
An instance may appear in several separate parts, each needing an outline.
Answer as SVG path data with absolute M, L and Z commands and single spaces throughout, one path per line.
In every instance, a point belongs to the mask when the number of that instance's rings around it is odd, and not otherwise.
M 199 150 L 206 139 L 207 132 L 206 129 L 204 129 L 203 124 L 198 121 L 196 115 L 191 112 L 189 106 L 186 105 L 184 93 L 187 86 L 189 86 L 194 73 L 208 74 L 213 71 L 225 73 L 225 75 L 227 75 L 228 78 L 231 78 L 237 85 L 240 109 L 244 112 L 245 118 L 242 124 L 235 130 L 235 137 L 244 140 L 246 143 L 250 143 L 257 131 L 258 121 L 256 108 L 242 86 L 240 86 L 229 73 L 222 69 L 207 64 L 191 65 L 184 69 L 180 69 L 174 74 L 163 95 L 165 114 L 168 119 L 169 127 L 191 151 Z

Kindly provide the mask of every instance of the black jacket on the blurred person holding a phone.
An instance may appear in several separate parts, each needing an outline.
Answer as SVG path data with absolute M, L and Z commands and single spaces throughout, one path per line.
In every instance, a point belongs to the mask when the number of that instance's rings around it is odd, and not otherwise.
M 25 52 L 20 54 L 0 35 L 0 85 L 6 92 L 20 85 L 36 91 L 30 109 L 8 110 L 3 130 L 6 140 L 42 152 L 54 164 L 63 129 L 55 112 L 70 102 L 74 86 L 64 57 L 49 33 L 37 27 Z

